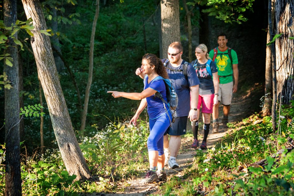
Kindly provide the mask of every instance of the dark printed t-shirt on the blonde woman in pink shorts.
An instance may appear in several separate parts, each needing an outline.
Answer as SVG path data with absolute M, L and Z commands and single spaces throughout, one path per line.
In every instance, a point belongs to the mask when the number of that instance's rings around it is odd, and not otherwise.
M 192 61 L 191 64 L 195 68 L 196 74 L 197 74 L 199 81 L 200 81 L 199 95 L 214 94 L 214 86 L 213 86 L 212 76 L 206 70 L 206 63 L 201 64 L 201 63 L 197 62 L 197 64 L 195 64 L 195 62 L 196 62 L 196 60 Z M 198 66 L 198 68 L 197 68 L 197 66 Z M 217 68 L 215 62 L 211 61 L 210 69 L 211 69 L 212 73 L 218 72 L 218 68 Z

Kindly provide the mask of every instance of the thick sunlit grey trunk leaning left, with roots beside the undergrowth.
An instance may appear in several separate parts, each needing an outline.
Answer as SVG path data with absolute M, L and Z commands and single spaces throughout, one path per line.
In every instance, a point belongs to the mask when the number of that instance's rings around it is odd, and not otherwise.
M 77 176 L 76 180 L 88 179 L 91 174 L 71 124 L 54 64 L 49 36 L 39 32 L 47 29 L 40 2 L 38 0 L 22 0 L 22 3 L 26 17 L 32 18 L 35 27 L 31 31 L 34 34 L 34 37 L 31 37 L 31 45 L 64 165 L 69 175 Z

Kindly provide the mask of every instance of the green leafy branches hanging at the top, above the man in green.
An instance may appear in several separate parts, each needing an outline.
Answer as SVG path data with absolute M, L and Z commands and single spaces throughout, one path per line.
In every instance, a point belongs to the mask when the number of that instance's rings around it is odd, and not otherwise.
M 246 10 L 252 11 L 254 0 L 194 0 L 190 5 L 206 5 L 209 8 L 202 10 L 204 13 L 209 13 L 208 16 L 216 16 L 217 19 L 225 21 L 225 23 L 236 22 L 241 24 L 248 19 L 243 13 Z M 188 3 L 187 3 L 188 4 Z

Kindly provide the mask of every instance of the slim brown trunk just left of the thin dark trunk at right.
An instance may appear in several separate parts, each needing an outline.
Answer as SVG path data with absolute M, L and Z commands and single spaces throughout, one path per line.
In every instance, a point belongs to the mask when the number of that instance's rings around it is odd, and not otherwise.
M 270 31 L 268 28 L 266 42 L 270 41 Z M 264 105 L 262 109 L 262 115 L 267 116 L 271 114 L 272 101 L 269 97 L 273 94 L 273 69 L 272 69 L 272 53 L 270 52 L 270 46 L 266 47 L 266 57 L 265 57 L 265 94 L 268 94 L 264 99 Z

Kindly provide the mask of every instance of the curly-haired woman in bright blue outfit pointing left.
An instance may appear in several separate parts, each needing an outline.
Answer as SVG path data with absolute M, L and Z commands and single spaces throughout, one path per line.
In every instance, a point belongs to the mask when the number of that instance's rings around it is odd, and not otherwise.
M 118 91 L 107 91 L 107 93 L 112 93 L 111 95 L 114 98 L 125 97 L 133 100 L 141 100 L 136 114 L 130 120 L 130 124 L 133 123 L 133 125 L 136 125 L 139 115 L 147 106 L 150 126 L 150 134 L 147 140 L 150 170 L 148 170 L 145 179 L 142 181 L 144 184 L 147 184 L 167 180 L 164 170 L 163 134 L 170 125 L 168 115 L 171 116 L 171 113 L 168 110 L 169 114 L 167 114 L 161 99 L 154 97 L 154 94 L 159 92 L 167 101 L 164 81 L 161 79 L 154 80 L 157 76 L 168 78 L 163 63 L 156 55 L 145 54 L 142 58 L 141 68 L 143 69 L 143 74 L 147 74 L 144 90 L 141 93 Z M 168 108 L 167 105 L 166 108 Z

